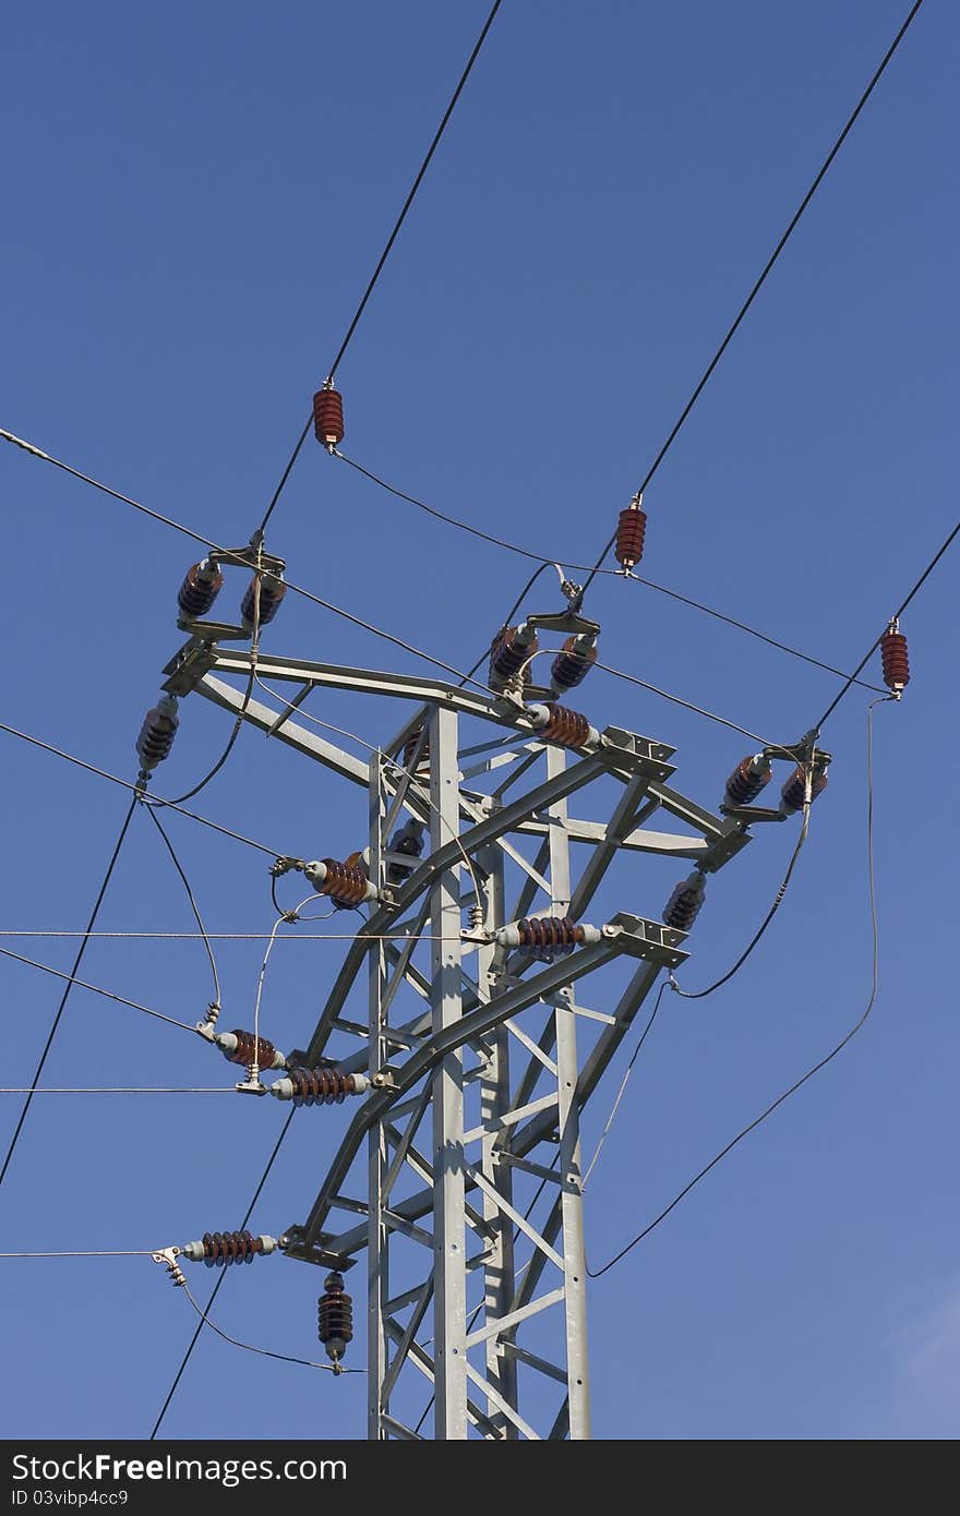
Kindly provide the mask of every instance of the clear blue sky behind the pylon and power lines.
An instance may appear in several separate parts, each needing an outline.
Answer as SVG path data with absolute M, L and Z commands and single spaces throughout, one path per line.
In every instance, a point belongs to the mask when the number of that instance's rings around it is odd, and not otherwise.
M 485 9 L 20 8 L 0 62 L 0 424 L 244 541 Z M 591 561 L 904 12 L 905 0 L 505 0 L 340 371 L 344 446 L 441 509 Z M 931 0 L 646 499 L 651 578 L 840 667 L 955 515 L 958 42 L 955 8 Z M 174 596 L 191 547 L 11 447 L 0 488 L 3 719 L 133 778 L 143 713 L 182 641 Z M 458 667 L 528 573 L 312 438 L 270 546 L 296 582 Z M 227 585 L 224 615 L 243 582 Z M 874 1017 L 593 1286 L 599 1437 L 960 1431 L 955 600 L 948 558 L 904 622 L 907 696 L 875 713 Z M 605 661 L 773 740 L 796 738 L 837 687 L 637 585 L 599 581 L 587 609 Z M 264 647 L 423 667 L 293 596 Z M 707 1001 L 664 999 L 588 1195 L 595 1267 L 866 1004 L 866 699 L 851 693 L 825 729 L 830 788 L 757 954 Z M 573 703 L 673 744 L 676 782 L 708 805 L 749 747 L 602 675 Z M 376 702 L 312 708 L 372 740 L 396 725 Z M 227 728 L 187 700 L 159 793 L 199 779 Z M 2 734 L 0 763 L 0 922 L 77 929 L 127 800 Z M 365 828 L 359 791 L 255 732 L 197 807 L 302 857 L 343 857 Z M 168 825 L 208 925 L 267 931 L 262 855 Z M 713 881 L 687 987 L 749 938 L 793 838 L 760 831 Z M 657 916 L 678 875 L 626 867 L 605 905 Z M 144 816 L 100 925 L 193 926 Z M 67 967 L 76 943 L 9 946 Z M 278 949 L 267 1035 L 284 1046 L 312 1026 L 337 963 L 335 944 Z M 258 964 L 258 944 L 221 946 L 223 1025 L 250 1025 Z M 197 941 L 96 941 L 83 973 L 188 1022 L 209 998 Z M 24 1084 L 59 985 L 11 961 L 0 985 L 5 1082 Z M 76 991 L 44 1082 L 229 1084 L 231 1069 Z M 20 1102 L 0 1099 L 12 1131 Z M 223 1096 L 38 1098 L 0 1192 L 0 1248 L 150 1248 L 235 1226 L 284 1114 Z M 347 1114 L 297 1117 L 255 1229 L 303 1217 Z M 5 1434 L 147 1436 L 196 1320 L 162 1270 L 2 1267 Z M 215 1307 L 226 1331 L 318 1352 L 317 1272 L 282 1258 L 234 1272 Z M 202 1292 L 211 1280 L 191 1273 Z M 364 1380 L 205 1333 L 164 1431 L 362 1437 Z

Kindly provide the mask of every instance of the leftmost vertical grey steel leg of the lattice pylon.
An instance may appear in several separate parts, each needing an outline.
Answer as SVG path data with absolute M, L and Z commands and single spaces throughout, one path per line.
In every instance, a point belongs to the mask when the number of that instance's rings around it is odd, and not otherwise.
M 384 816 L 388 797 L 384 791 L 384 760 L 370 756 L 370 878 L 384 882 Z M 384 1043 L 384 985 L 387 978 L 387 944 L 378 941 L 370 952 L 370 1057 L 373 1076 L 387 1063 Z M 384 1225 L 384 1175 L 388 1169 L 387 1131 L 376 1122 L 367 1137 L 367 1440 L 381 1442 L 387 1430 L 382 1402 L 388 1367 L 387 1301 L 390 1299 L 390 1231 Z

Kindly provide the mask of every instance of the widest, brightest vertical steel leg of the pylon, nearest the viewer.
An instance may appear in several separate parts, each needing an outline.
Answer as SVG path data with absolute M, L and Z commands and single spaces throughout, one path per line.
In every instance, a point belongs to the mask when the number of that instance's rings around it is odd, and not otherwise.
M 456 713 L 437 705 L 429 719 L 431 850 L 460 834 Z M 460 972 L 460 867 L 437 875 L 431 888 L 434 1034 L 463 1014 Z M 435 1436 L 467 1436 L 467 1270 L 464 1236 L 463 1054 L 449 1054 L 432 1075 L 434 1104 L 434 1343 Z

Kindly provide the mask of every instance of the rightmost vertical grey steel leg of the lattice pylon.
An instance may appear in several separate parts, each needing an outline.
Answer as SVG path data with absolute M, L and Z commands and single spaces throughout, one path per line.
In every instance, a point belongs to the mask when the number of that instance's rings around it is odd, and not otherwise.
M 547 776 L 563 773 L 566 752 L 552 744 L 546 753 Z M 551 888 L 554 911 L 566 916 L 570 908 L 570 840 L 564 829 L 567 802 L 558 800 L 551 816 Z M 560 1122 L 561 1223 L 564 1261 L 564 1313 L 567 1328 L 567 1395 L 570 1440 L 590 1437 L 590 1372 L 587 1363 L 587 1260 L 584 1249 L 584 1199 L 579 1158 L 579 1110 L 576 1105 L 576 1016 L 564 1008 L 573 1004 L 572 988 L 558 994 L 557 1087 Z

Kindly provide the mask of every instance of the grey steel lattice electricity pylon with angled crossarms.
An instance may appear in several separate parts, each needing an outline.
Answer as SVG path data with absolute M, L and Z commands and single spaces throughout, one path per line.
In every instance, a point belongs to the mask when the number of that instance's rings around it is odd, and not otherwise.
M 558 631 L 567 620 L 541 619 Z M 250 679 L 249 650 L 193 631 L 168 691 L 243 711 L 367 791 L 376 899 L 288 1063 L 334 1057 L 370 1082 L 282 1246 L 341 1272 L 367 1254 L 369 1437 L 422 1436 L 402 1416 L 417 1370 L 438 1439 L 585 1439 L 581 1113 L 661 970 L 687 957 L 684 932 L 651 916 L 591 922 L 588 908 L 622 854 L 711 873 L 749 841 L 746 823 L 675 790 L 667 744 L 531 703 L 547 691 L 258 653 L 262 682 L 299 687 L 278 713 L 223 678 Z M 365 761 L 294 720 L 314 690 L 400 697 L 413 713 Z M 493 740 L 464 746 L 478 722 Z M 604 820 L 572 813 L 575 796 L 604 794 Z M 649 829 L 654 813 L 684 829 Z M 399 828 L 413 846 L 397 844 Z M 598 1008 L 581 990 L 602 969 Z M 365 1011 L 352 1011 L 364 976 Z

